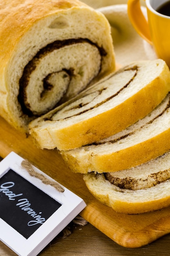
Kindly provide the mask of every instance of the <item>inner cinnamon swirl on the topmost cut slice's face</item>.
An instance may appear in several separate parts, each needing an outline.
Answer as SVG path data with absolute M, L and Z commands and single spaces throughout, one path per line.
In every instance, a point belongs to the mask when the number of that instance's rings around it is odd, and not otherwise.
M 135 79 L 138 72 L 138 67 L 134 66 L 124 70 L 127 75 L 126 81 L 122 81 L 121 84 L 117 85 L 116 88 L 112 86 L 112 79 L 115 81 L 115 74 L 109 77 L 109 83 L 106 85 L 106 81 L 88 88 L 83 94 L 80 94 L 73 103 L 70 103 L 62 110 L 53 112 L 48 117 L 45 117 L 44 121 L 58 121 L 60 119 L 69 119 L 71 117 L 79 116 L 85 114 L 95 108 L 98 108 L 104 104 L 108 104 L 109 101 L 117 97 L 120 93 L 126 89 L 131 82 Z M 117 74 L 117 78 L 121 74 Z M 73 113 L 70 115 L 70 113 Z

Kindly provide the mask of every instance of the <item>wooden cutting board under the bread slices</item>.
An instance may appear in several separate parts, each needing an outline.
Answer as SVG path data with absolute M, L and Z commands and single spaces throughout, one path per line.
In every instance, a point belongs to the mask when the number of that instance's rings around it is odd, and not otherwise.
M 139 215 L 113 211 L 93 198 L 82 174 L 68 170 L 56 149 L 37 148 L 31 137 L 16 131 L 0 117 L 0 156 L 4 158 L 11 151 L 83 198 L 87 206 L 80 215 L 119 245 L 141 247 L 170 233 L 170 207 Z

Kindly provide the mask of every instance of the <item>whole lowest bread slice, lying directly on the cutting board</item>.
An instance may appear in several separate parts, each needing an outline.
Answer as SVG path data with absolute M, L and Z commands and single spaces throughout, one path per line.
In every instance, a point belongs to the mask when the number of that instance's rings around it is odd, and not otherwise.
M 128 214 L 170 206 L 170 151 L 147 163 L 113 173 L 84 174 L 89 191 L 115 211 Z

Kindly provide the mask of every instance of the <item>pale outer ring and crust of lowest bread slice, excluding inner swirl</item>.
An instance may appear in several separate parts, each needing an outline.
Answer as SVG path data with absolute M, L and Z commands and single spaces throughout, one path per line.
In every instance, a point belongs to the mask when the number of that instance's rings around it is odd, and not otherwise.
M 85 174 L 84 182 L 97 200 L 117 212 L 138 214 L 170 206 L 170 180 L 138 190 L 120 189 L 106 180 L 104 173 Z

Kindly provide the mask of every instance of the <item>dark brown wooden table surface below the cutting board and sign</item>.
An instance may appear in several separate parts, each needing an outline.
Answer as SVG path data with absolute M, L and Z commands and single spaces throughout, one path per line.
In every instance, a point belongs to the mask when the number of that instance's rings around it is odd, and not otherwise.
M 0 157 L 0 160 L 2 158 Z M 71 234 L 62 238 L 62 233 L 47 245 L 39 256 L 169 256 L 170 234 L 140 248 L 125 248 L 108 238 L 90 223 L 85 226 L 70 224 Z M 16 254 L 0 242 L 0 256 Z

